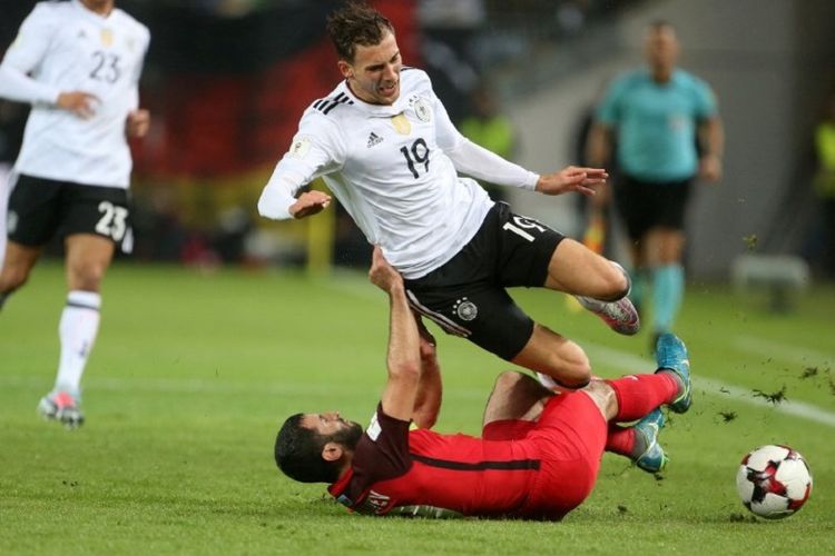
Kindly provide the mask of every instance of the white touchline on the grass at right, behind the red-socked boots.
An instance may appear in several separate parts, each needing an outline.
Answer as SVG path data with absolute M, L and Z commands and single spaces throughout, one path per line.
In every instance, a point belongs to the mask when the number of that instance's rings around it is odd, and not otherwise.
M 583 347 L 587 349 L 589 357 L 591 357 L 592 360 L 597 359 L 625 373 L 649 373 L 652 367 L 652 363 L 627 351 L 607 348 L 588 341 L 583 344 Z M 729 385 L 713 378 L 700 377 L 698 376 L 698 371 L 692 377 L 692 384 L 706 394 L 713 396 L 726 395 L 744 404 L 757 407 L 768 407 L 775 411 L 835 427 L 835 413 L 827 411 L 817 406 L 813 406 L 812 404 L 785 400 L 779 405 L 774 405 L 765 399 L 753 398 L 750 390 L 746 390 L 739 386 Z

